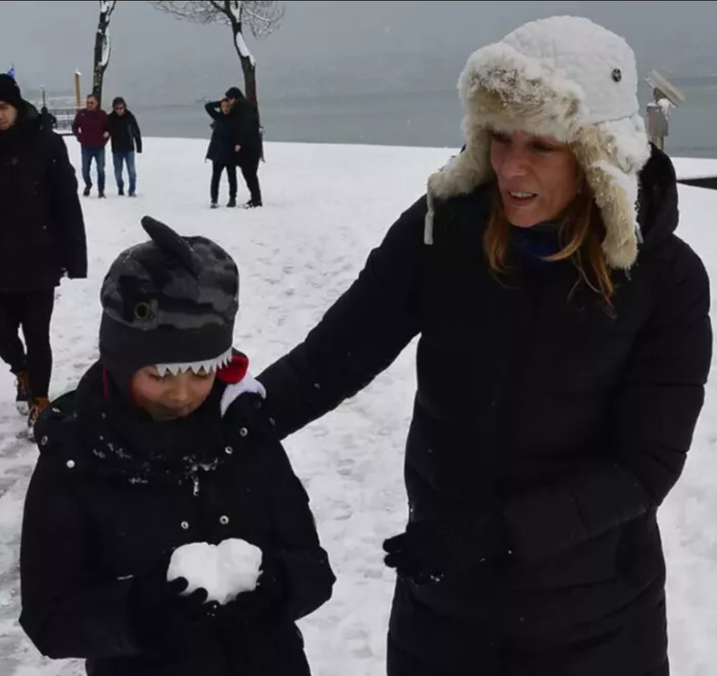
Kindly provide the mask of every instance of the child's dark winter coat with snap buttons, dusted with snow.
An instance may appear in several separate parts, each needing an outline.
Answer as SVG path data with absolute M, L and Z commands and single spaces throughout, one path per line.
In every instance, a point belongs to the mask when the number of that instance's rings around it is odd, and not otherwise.
M 20 624 L 32 642 L 54 659 L 87 659 L 92 676 L 308 676 L 295 620 L 331 597 L 335 578 L 259 396 L 239 396 L 222 418 L 217 380 L 166 438 L 175 423 L 140 422 L 105 387 L 95 365 L 35 428 L 41 454 L 20 570 Z M 287 591 L 273 618 L 219 615 L 171 651 L 143 647 L 129 613 L 132 576 L 181 545 L 232 537 L 279 561 Z

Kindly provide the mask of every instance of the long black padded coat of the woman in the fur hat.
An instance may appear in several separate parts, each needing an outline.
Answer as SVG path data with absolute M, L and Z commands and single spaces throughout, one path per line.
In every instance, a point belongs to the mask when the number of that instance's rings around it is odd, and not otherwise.
M 667 676 L 657 510 L 678 481 L 711 365 L 710 288 L 675 235 L 667 156 L 642 172 L 645 244 L 617 318 L 571 263 L 496 278 L 492 187 L 391 227 L 303 344 L 260 375 L 282 436 L 356 394 L 414 336 L 407 441 L 416 520 L 501 527 L 505 555 L 428 586 L 399 579 L 390 676 Z M 507 552 L 510 552 L 508 554 Z

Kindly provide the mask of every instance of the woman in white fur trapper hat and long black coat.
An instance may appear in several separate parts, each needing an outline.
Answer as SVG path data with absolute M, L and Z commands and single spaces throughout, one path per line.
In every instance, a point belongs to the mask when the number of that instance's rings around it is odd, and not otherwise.
M 630 47 L 527 24 L 460 78 L 465 151 L 261 382 L 282 436 L 420 335 L 391 676 L 667 676 L 657 508 L 711 365 Z

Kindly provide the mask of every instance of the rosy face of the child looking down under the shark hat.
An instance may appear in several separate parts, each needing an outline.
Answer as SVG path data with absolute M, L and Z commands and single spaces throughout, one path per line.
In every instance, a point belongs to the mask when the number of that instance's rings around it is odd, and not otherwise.
M 215 377 L 214 372 L 191 371 L 161 376 L 156 367 L 148 366 L 133 375 L 130 387 L 135 403 L 154 420 L 171 421 L 191 416 L 212 392 Z

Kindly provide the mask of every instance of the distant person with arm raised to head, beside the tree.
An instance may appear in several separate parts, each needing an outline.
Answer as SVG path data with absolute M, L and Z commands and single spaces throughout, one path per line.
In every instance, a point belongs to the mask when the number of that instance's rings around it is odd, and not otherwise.
M 232 120 L 232 103 L 228 98 L 221 101 L 210 101 L 204 106 L 212 123 L 212 140 L 206 151 L 206 159 L 212 161 L 212 209 L 219 206 L 219 183 L 222 181 L 224 170 L 229 179 L 229 203 L 227 207 L 233 209 L 237 206 L 237 153 L 241 146 L 237 138 L 236 128 Z M 217 110 L 219 108 L 219 110 Z

